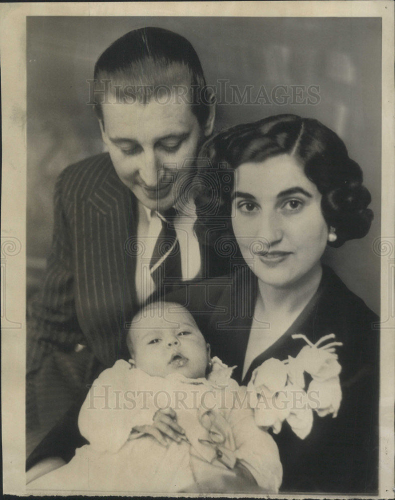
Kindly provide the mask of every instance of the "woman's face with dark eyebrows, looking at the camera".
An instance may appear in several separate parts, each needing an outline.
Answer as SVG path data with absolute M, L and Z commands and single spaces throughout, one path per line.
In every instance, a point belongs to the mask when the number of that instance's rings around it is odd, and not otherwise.
M 328 239 L 321 194 L 288 154 L 237 168 L 232 225 L 252 271 L 276 287 L 317 269 Z

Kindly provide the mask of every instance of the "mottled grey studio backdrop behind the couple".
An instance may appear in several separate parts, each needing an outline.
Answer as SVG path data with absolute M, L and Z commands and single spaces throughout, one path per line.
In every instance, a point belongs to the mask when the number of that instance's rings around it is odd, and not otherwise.
M 112 41 L 141 26 L 176 31 L 193 44 L 207 83 L 217 87 L 217 131 L 295 113 L 341 136 L 364 171 L 375 219 L 365 238 L 328 250 L 325 261 L 380 312 L 374 241 L 381 227 L 381 18 L 367 17 L 28 17 L 28 296 L 50 248 L 57 175 L 104 150 L 87 104 L 94 63 Z

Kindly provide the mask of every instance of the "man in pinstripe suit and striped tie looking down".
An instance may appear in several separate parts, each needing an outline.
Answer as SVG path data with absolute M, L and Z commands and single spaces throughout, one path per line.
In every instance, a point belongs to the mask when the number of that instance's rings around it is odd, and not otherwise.
M 101 54 L 94 79 L 108 153 L 69 166 L 56 184 L 52 249 L 27 333 L 28 451 L 122 356 L 125 323 L 166 279 L 226 272 L 195 235 L 184 195 L 186 160 L 215 118 L 192 45 L 161 28 L 130 31 Z

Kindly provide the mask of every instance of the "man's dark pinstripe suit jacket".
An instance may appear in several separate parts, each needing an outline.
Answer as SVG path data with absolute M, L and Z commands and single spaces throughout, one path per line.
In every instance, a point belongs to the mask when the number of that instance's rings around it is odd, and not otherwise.
M 138 308 L 136 259 L 125 251 L 137 233 L 137 200 L 109 155 L 67 167 L 54 203 L 52 248 L 27 336 L 27 429 L 42 432 L 98 372 L 126 354 L 122 325 Z M 206 250 L 201 242 L 201 255 L 212 260 Z M 78 344 L 86 347 L 78 351 Z

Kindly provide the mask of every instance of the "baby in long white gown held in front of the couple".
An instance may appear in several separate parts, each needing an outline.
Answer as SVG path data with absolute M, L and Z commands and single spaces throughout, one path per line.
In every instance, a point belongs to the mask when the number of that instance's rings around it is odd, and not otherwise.
M 257 427 L 246 388 L 210 358 L 179 304 L 143 308 L 127 334 L 131 359 L 93 383 L 79 414 L 89 444 L 29 489 L 140 492 L 277 492 L 282 466 Z M 237 404 L 235 404 L 237 402 Z

